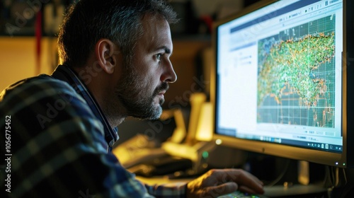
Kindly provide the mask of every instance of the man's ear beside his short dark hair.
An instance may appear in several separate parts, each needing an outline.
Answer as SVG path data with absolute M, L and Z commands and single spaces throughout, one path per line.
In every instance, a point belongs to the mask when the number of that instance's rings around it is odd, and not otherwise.
M 115 67 L 119 63 L 116 56 L 118 53 L 118 46 L 112 41 L 103 38 L 96 42 L 95 54 L 97 63 L 108 74 L 113 74 Z

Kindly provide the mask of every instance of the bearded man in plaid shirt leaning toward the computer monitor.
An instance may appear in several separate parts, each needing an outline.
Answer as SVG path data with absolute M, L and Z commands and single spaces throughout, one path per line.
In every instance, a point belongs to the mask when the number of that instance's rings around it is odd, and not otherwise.
M 60 28 L 59 65 L 9 86 L 0 95 L 0 128 L 12 153 L 10 197 L 217 197 L 234 190 L 263 193 L 243 170 L 211 170 L 175 187 L 143 185 L 110 152 L 127 116 L 156 119 L 169 83 L 164 0 L 81 0 Z M 7 128 L 6 128 L 7 129 Z M 2 156 L 4 156 L 3 154 Z M 10 190 L 11 192 L 9 192 Z

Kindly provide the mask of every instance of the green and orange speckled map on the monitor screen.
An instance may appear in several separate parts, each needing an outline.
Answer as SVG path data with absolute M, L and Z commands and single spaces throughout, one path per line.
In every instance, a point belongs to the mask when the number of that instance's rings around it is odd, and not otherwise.
M 334 128 L 335 15 L 258 41 L 258 122 Z

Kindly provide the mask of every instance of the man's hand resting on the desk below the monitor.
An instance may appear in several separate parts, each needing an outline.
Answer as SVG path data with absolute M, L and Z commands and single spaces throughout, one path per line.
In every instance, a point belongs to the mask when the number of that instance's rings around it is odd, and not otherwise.
M 212 198 L 236 190 L 263 194 L 263 182 L 241 169 L 209 170 L 197 179 L 188 182 L 188 198 Z

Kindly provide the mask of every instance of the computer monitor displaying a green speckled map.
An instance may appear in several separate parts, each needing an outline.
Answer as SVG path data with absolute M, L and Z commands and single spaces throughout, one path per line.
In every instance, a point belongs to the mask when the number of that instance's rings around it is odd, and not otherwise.
M 217 144 L 354 166 L 352 8 L 259 1 L 215 23 Z

